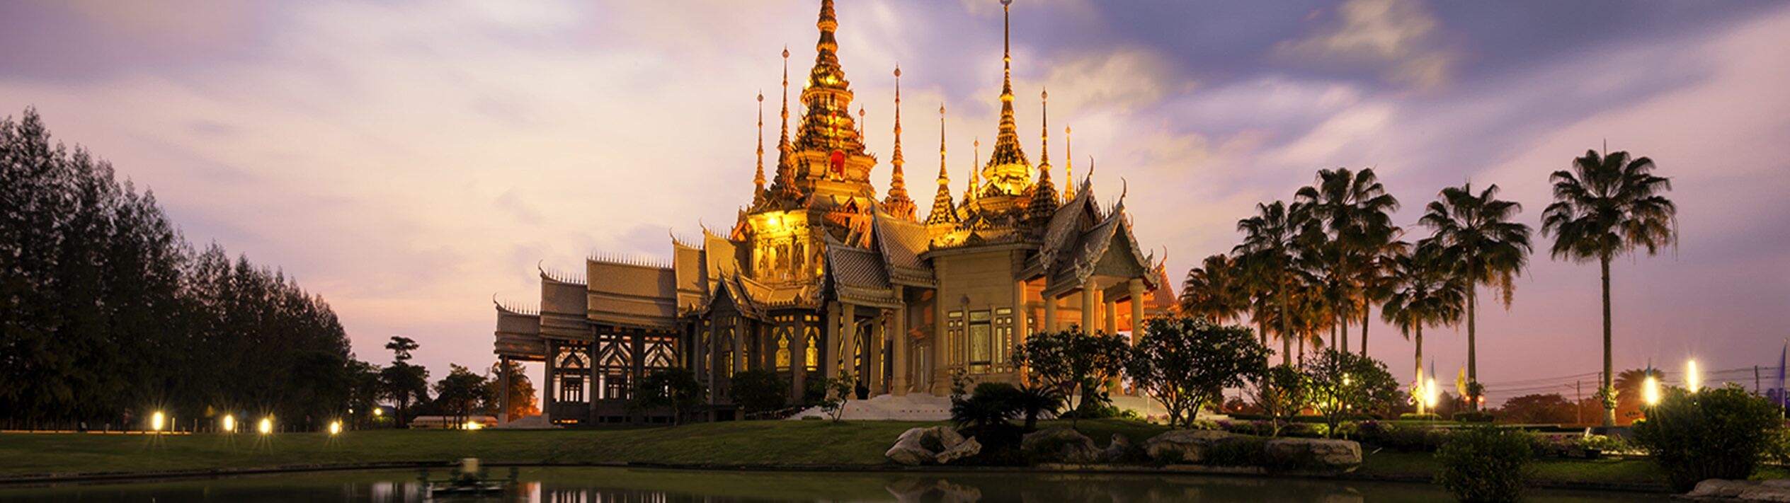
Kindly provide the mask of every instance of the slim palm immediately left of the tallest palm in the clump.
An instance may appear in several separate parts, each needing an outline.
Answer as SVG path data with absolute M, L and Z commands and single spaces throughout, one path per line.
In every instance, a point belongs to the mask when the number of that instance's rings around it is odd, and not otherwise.
M 1291 363 L 1292 322 L 1283 313 L 1289 310 L 1292 263 L 1298 260 L 1294 240 L 1305 227 L 1305 213 L 1300 211 L 1298 204 L 1289 209 L 1282 200 L 1274 200 L 1273 204 L 1257 202 L 1255 211 L 1255 217 L 1237 222 L 1237 231 L 1242 233 L 1242 243 L 1232 249 L 1232 252 L 1251 254 L 1255 265 L 1264 267 L 1267 274 L 1274 277 L 1274 290 L 1280 297 L 1280 313 L 1276 315 L 1280 319 L 1282 360 Z

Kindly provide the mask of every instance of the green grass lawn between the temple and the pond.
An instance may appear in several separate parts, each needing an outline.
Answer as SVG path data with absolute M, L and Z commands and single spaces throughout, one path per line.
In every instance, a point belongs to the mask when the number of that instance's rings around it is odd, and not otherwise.
M 745 421 L 675 428 L 600 430 L 369 430 L 337 439 L 322 433 L 258 435 L 0 435 L 0 476 L 141 473 L 177 469 L 240 469 L 311 464 L 485 462 L 550 464 L 714 464 L 850 467 L 888 465 L 882 451 L 908 428 L 943 422 L 897 421 Z M 1042 421 L 1040 428 L 1069 426 Z M 1160 431 L 1137 421 L 1081 421 L 1081 431 L 1104 446 L 1113 433 L 1142 442 Z M 1357 471 L 1375 478 L 1419 478 L 1436 473 L 1428 453 L 1364 453 Z M 1769 469 L 1770 476 L 1786 476 Z M 1645 460 L 1561 460 L 1536 464 L 1543 482 L 1658 485 L 1665 478 Z

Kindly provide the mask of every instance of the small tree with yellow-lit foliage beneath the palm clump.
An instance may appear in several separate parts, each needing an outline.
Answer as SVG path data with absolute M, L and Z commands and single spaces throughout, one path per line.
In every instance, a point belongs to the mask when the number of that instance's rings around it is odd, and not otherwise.
M 1328 349 L 1305 362 L 1301 372 L 1305 403 L 1325 417 L 1330 433 L 1353 413 L 1384 410 L 1398 403 L 1398 379 L 1380 360 Z

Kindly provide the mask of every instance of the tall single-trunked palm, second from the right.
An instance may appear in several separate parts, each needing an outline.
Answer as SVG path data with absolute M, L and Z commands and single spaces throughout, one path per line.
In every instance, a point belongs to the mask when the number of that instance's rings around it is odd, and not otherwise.
M 1466 285 L 1466 379 L 1468 388 L 1479 383 L 1479 347 L 1475 310 L 1479 285 L 1498 286 L 1504 308 L 1511 308 L 1516 294 L 1516 274 L 1529 265 L 1529 226 L 1511 222 L 1522 204 L 1498 199 L 1498 184 L 1475 193 L 1473 183 L 1443 188 L 1437 200 L 1425 206 L 1418 222 L 1436 231 L 1430 240 L 1441 247 L 1453 265 L 1453 274 Z M 1479 410 L 1477 396 L 1468 405 Z

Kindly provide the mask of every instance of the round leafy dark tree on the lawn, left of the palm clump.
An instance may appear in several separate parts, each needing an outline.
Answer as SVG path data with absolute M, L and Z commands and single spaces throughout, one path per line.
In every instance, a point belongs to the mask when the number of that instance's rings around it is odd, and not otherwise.
M 1192 426 L 1224 388 L 1267 371 L 1267 347 L 1246 328 L 1205 319 L 1149 319 L 1131 349 L 1126 374 L 1169 412 L 1169 428 Z

